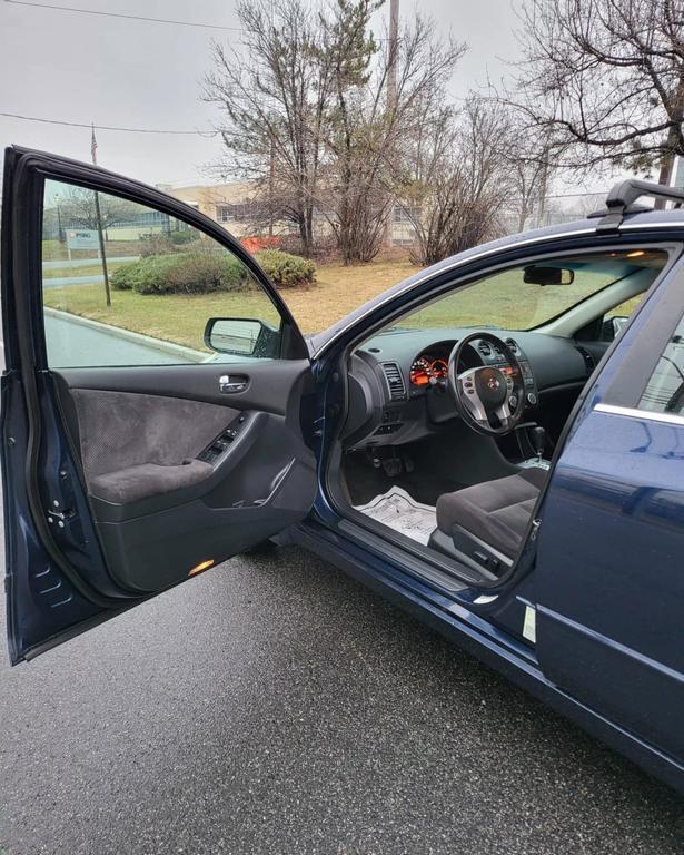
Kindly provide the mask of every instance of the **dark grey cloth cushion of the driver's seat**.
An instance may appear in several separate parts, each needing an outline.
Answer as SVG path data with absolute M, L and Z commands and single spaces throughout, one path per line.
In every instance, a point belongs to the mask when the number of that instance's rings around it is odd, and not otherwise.
M 437 528 L 453 537 L 459 525 L 513 558 L 518 551 L 548 472 L 531 468 L 519 474 L 466 487 L 437 499 Z

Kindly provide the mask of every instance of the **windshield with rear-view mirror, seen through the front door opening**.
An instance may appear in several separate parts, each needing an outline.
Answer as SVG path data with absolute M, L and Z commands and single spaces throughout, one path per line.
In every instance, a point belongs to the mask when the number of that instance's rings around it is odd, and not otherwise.
M 537 266 L 537 274 L 531 273 L 526 263 L 453 291 L 405 315 L 395 328 L 533 330 L 618 282 L 628 279 L 646 291 L 666 258 L 665 252 L 642 249 L 572 256 L 542 262 L 544 267 Z M 557 272 L 559 282 L 553 282 L 553 272 Z

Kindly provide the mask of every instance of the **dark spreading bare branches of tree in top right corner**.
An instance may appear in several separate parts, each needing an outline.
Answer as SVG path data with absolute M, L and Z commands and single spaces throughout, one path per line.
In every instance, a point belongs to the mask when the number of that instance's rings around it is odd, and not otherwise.
M 510 99 L 564 166 L 660 168 L 684 154 L 682 0 L 526 0 Z

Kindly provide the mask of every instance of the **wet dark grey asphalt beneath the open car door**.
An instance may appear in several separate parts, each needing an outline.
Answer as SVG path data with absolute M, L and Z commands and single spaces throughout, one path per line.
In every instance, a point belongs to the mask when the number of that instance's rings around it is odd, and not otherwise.
M 235 559 L 0 666 L 9 855 L 670 855 L 684 803 L 330 566 Z

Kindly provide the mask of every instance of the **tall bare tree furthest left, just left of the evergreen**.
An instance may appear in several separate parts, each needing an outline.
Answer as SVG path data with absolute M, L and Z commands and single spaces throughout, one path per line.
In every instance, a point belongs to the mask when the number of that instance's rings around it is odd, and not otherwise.
M 225 115 L 221 171 L 256 180 L 270 217 L 297 225 L 305 254 L 314 243 L 328 73 L 314 46 L 320 20 L 306 0 L 244 0 L 240 50 L 212 46 L 205 100 Z

